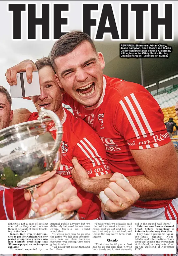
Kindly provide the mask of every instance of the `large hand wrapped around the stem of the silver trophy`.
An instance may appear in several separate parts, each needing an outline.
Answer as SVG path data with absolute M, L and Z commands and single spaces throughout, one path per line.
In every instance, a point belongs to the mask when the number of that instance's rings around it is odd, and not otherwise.
M 27 201 L 31 199 L 28 191 L 24 197 Z M 54 210 L 70 212 L 78 210 L 82 206 L 82 201 L 77 196 L 77 189 L 72 186 L 69 179 L 55 174 L 49 180 L 43 182 L 34 193 L 36 199 L 31 208 L 40 215 L 52 213 Z

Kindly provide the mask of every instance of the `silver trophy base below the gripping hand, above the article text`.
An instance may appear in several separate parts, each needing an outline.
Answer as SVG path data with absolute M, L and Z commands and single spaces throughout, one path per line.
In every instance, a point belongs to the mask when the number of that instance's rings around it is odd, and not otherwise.
M 38 214 L 38 213 L 36 213 Z M 54 211 L 50 214 L 47 214 L 45 216 L 36 216 L 29 218 L 29 216 L 25 217 L 23 220 L 30 220 L 30 221 L 43 221 L 43 220 L 50 220 L 50 221 L 69 221 L 69 220 L 79 220 L 77 211 L 74 212 L 59 212 L 59 211 Z

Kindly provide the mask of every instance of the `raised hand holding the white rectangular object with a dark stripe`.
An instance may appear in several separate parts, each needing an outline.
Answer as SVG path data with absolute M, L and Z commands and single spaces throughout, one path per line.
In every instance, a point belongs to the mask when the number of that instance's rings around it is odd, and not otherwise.
M 15 65 L 14 67 L 7 70 L 5 76 L 6 80 L 10 86 L 17 84 L 16 75 L 20 72 L 26 72 L 27 82 L 29 84 L 32 83 L 32 72 L 38 71 L 35 63 L 30 60 L 26 59 L 20 62 L 19 64 Z

